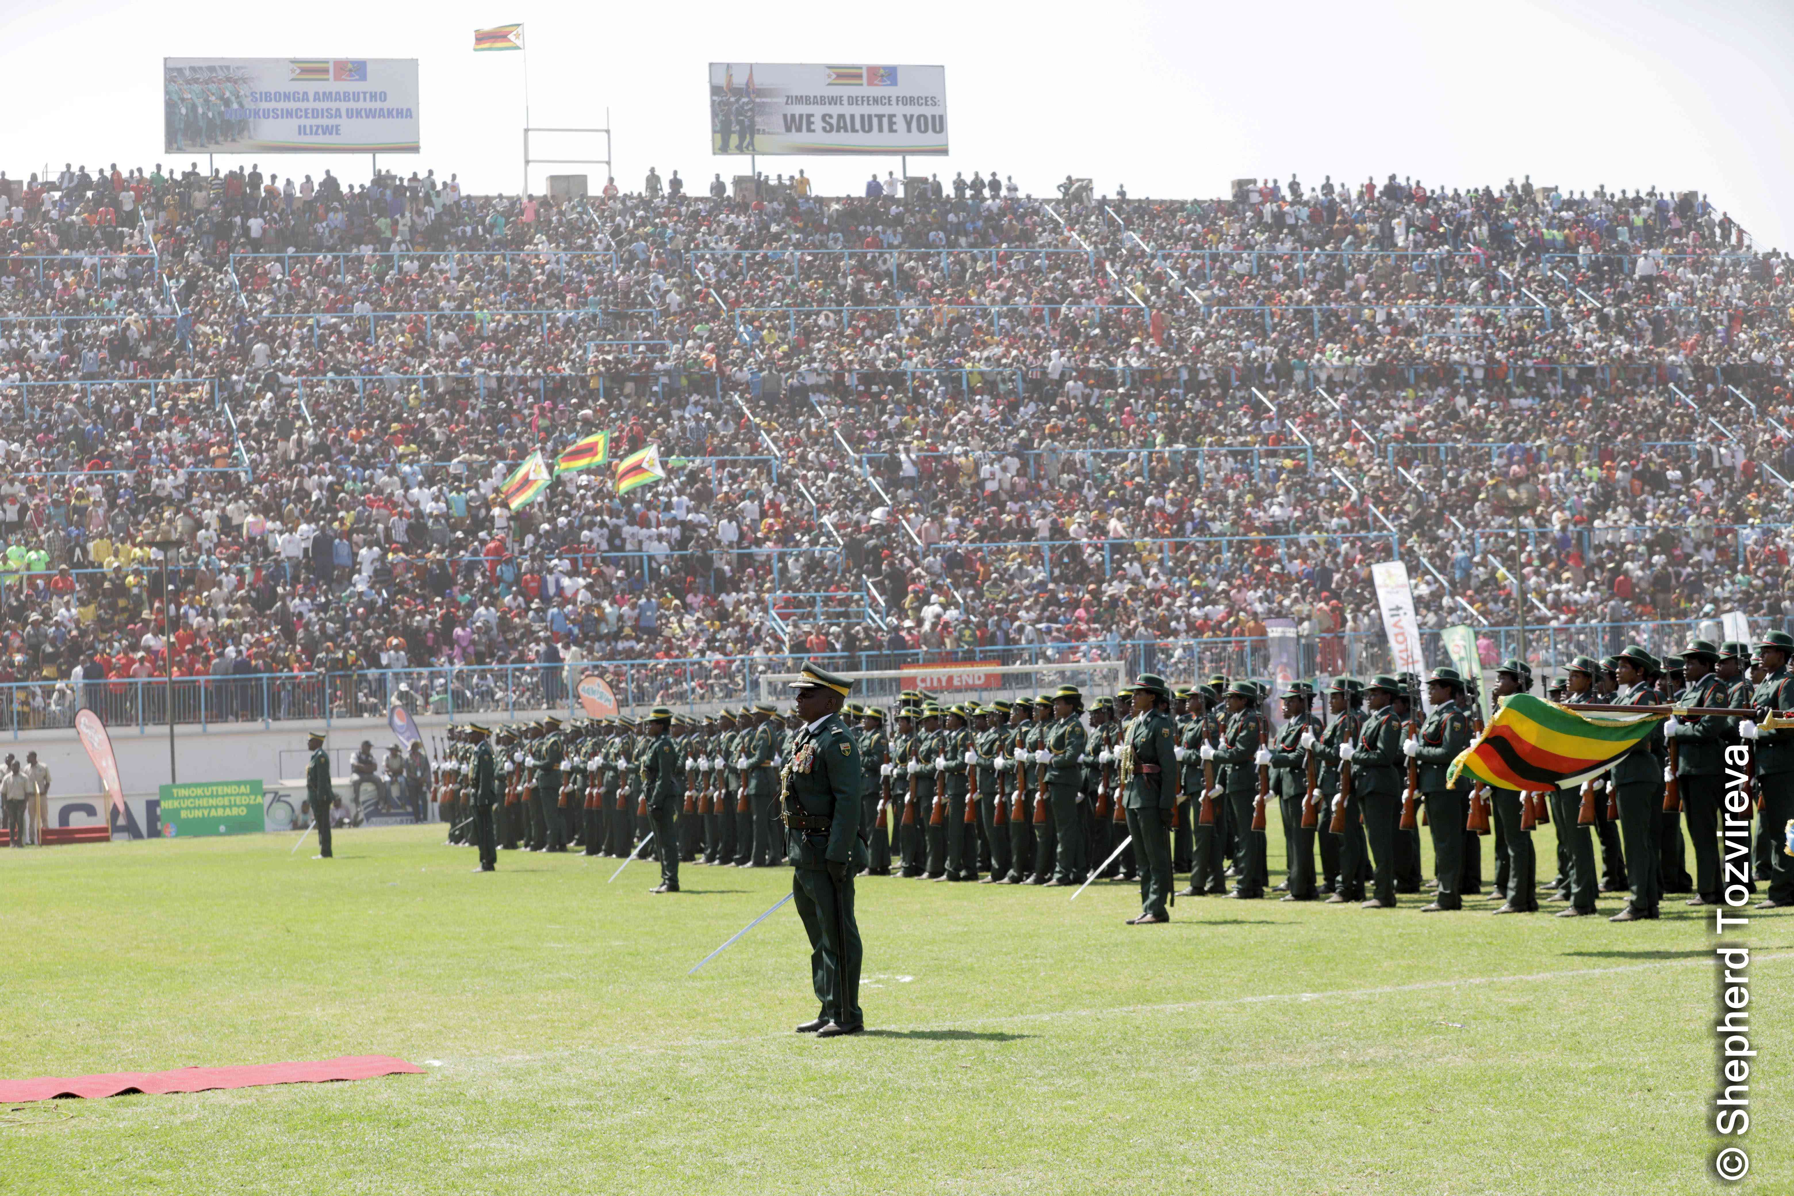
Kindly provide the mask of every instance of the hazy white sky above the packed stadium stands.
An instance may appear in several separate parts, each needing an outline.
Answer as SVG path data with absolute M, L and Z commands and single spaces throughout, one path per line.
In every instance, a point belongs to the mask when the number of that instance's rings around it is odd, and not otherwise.
M 470 47 L 475 27 L 524 22 L 535 124 L 596 126 L 608 108 L 630 188 L 649 165 L 694 183 L 734 172 L 709 154 L 712 59 L 942 63 L 953 154 L 911 172 L 994 167 L 1033 194 L 1075 172 L 1134 195 L 1218 195 L 1227 179 L 1292 170 L 1304 183 L 1394 170 L 1428 186 L 1532 174 L 1577 190 L 1701 188 L 1758 246 L 1794 244 L 1794 2 L 0 0 L 0 14 L 11 176 L 160 160 L 163 56 L 416 57 L 423 152 L 389 165 L 515 192 L 524 56 Z M 368 176 L 364 156 L 262 163 L 327 165 Z M 895 160 L 761 167 L 804 167 L 838 194 Z

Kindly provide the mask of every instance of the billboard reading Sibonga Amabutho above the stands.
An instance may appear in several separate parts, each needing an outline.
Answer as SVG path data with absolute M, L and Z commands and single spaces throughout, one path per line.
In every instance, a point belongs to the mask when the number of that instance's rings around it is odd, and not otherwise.
M 170 154 L 414 154 L 414 57 L 165 57 Z

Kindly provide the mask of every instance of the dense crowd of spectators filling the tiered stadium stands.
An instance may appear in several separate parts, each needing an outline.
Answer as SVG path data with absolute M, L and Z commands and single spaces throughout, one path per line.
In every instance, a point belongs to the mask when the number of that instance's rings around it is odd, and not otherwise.
M 1340 667 L 1392 552 L 1426 628 L 1794 619 L 1794 274 L 1704 195 L 913 190 L 0 174 L 0 683 Z M 667 479 L 497 498 L 597 430 Z

